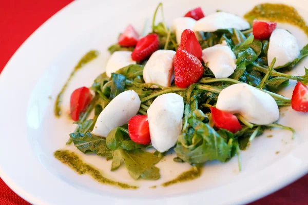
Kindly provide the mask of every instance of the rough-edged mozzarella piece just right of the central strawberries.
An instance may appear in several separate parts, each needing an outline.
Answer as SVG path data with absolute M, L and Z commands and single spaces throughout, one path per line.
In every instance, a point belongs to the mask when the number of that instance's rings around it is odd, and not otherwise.
M 202 53 L 204 63 L 216 78 L 229 77 L 236 69 L 236 56 L 225 41 L 204 49 Z

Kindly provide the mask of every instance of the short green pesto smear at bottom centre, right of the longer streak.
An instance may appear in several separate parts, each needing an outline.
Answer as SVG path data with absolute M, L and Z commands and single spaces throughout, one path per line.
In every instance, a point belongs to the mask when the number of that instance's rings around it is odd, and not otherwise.
M 177 176 L 175 179 L 172 179 L 170 181 L 167 181 L 162 184 L 163 187 L 168 187 L 170 185 L 174 185 L 175 183 L 185 182 L 194 180 L 196 178 L 199 178 L 201 176 L 202 169 L 198 167 L 192 167 L 190 170 L 183 172 L 179 176 Z

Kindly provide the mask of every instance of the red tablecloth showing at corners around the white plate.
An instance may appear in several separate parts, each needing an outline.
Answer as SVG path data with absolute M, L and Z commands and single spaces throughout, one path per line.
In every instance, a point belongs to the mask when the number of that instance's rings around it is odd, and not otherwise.
M 0 0 L 0 72 L 29 35 L 70 2 L 72 0 Z M 252 204 L 308 205 L 307 192 L 308 175 Z M 0 178 L 0 205 L 6 204 L 29 203 L 16 195 Z

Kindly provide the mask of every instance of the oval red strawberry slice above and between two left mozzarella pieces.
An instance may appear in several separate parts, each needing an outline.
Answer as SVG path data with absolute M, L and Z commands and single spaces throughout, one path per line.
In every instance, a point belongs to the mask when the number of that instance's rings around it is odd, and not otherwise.
M 144 60 L 159 48 L 159 38 L 155 33 L 140 38 L 136 48 L 131 53 L 131 59 Z

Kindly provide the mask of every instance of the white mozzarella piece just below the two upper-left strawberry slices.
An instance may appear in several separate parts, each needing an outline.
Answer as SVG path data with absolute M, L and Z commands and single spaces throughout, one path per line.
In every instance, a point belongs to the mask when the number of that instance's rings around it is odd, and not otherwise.
M 136 64 L 136 61 L 131 59 L 131 51 L 115 51 L 110 56 L 106 65 L 106 75 L 111 77 L 111 73 L 115 73 L 121 68 Z

